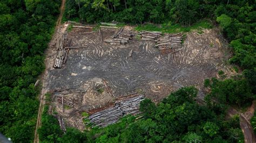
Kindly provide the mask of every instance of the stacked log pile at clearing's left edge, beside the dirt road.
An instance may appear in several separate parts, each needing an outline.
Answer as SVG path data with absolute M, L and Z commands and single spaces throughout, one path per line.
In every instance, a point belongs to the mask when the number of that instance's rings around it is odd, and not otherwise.
M 70 43 L 71 39 L 66 39 L 64 34 L 57 38 L 56 51 L 58 54 L 55 59 L 55 64 L 53 65 L 54 68 L 62 68 L 62 64 L 66 62 L 66 56 L 68 55 L 69 49 L 66 49 L 65 47 L 69 47 Z

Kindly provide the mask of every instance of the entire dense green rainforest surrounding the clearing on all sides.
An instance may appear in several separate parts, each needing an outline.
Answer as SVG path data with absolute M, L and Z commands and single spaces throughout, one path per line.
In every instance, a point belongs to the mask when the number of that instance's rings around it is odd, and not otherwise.
M 0 2 L 0 132 L 14 142 L 31 142 L 38 110 L 35 83 L 44 69 L 44 50 L 54 32 L 60 1 Z M 244 108 L 256 94 L 256 2 L 253 0 L 66 0 L 64 21 L 119 22 L 160 28 L 190 27 L 207 20 L 220 28 L 233 53 L 228 64 L 238 76 L 206 79 L 205 105 L 197 89 L 181 88 L 157 105 L 145 99 L 143 117 L 126 117 L 106 128 L 64 134 L 56 118 L 44 113 L 42 142 L 240 142 L 237 116 L 225 118 L 228 106 Z M 217 102 L 212 102 L 214 101 Z M 47 106 L 46 106 L 47 108 Z M 47 110 L 44 110 L 47 111 Z

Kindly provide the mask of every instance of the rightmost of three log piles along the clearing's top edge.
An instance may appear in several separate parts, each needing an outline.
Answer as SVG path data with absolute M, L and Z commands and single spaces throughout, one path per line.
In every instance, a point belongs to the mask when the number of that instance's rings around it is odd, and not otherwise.
M 182 37 L 183 35 L 181 33 L 165 35 L 157 40 L 156 47 L 158 47 L 159 50 L 181 48 Z

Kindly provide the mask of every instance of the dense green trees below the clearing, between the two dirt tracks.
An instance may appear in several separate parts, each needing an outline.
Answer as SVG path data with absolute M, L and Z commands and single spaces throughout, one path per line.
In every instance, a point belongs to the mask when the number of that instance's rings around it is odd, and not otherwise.
M 150 99 L 140 103 L 143 118 L 127 116 L 105 128 L 80 132 L 68 128 L 59 131 L 57 119 L 43 115 L 42 142 L 238 142 L 243 140 L 239 117 L 224 120 L 211 108 L 198 105 L 197 89 L 181 88 L 159 104 Z M 86 113 L 82 113 L 82 115 Z M 46 118 L 46 119 L 45 119 Z M 52 131 L 45 131 L 46 128 Z M 45 128 L 45 130 L 43 130 Z

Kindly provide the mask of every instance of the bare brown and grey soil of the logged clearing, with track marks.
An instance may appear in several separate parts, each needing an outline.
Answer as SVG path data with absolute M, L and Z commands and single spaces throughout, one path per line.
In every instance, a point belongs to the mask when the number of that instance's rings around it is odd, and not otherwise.
M 202 99 L 205 78 L 218 77 L 218 70 L 227 75 L 234 74 L 225 64 L 228 59 L 226 43 L 215 28 L 203 30 L 202 34 L 196 31 L 187 33 L 179 52 L 163 55 L 154 47 L 156 43 L 153 41 L 137 40 L 134 36 L 125 45 L 104 44 L 98 32 L 84 28 L 72 28 L 66 32 L 67 24 L 58 32 L 72 39 L 71 47 L 88 47 L 70 49 L 65 65 L 54 69 L 57 52 L 54 52 L 56 38 L 53 38 L 50 44 L 53 55 L 47 58 L 46 88 L 48 91 L 62 90 L 54 92 L 52 106 L 69 126 L 81 131 L 85 128 L 82 112 L 109 106 L 116 97 L 139 92 L 159 102 L 171 91 L 194 85 L 200 90 L 198 98 Z M 101 31 L 102 38 L 108 39 L 117 29 L 101 28 Z M 130 26 L 126 26 L 124 32 L 137 34 Z M 112 95 L 105 89 L 103 80 L 109 85 Z M 99 89 L 103 91 L 99 92 Z M 72 101 L 73 106 L 65 106 L 63 110 L 62 103 L 58 102 L 58 97 L 62 96 Z

